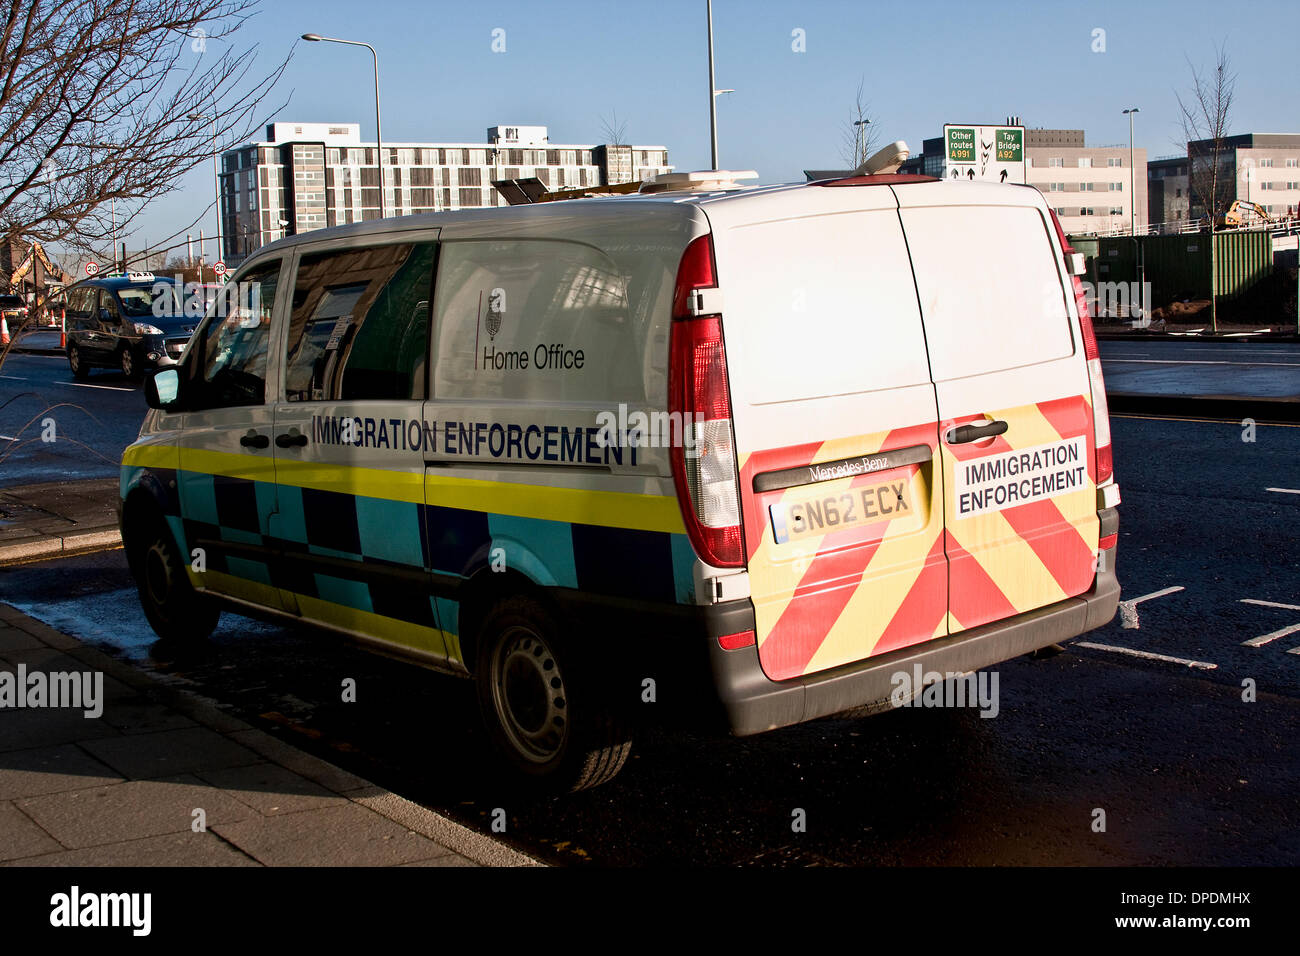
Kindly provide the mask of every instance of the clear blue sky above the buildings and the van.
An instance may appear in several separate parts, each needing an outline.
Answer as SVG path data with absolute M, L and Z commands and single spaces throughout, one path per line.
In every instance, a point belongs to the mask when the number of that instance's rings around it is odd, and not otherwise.
M 493 30 L 506 52 L 491 51 Z M 792 49 L 805 31 L 806 52 Z M 1093 30 L 1105 52 L 1093 52 Z M 720 165 L 762 182 L 840 165 L 841 129 L 864 81 L 879 139 L 914 151 L 944 122 L 1083 127 L 1089 144 L 1179 151 L 1175 91 L 1187 59 L 1209 66 L 1226 42 L 1238 73 L 1235 133 L 1300 131 L 1295 0 L 1144 3 L 771 3 L 715 0 Z M 705 0 L 429 3 L 264 0 L 239 43 L 269 65 L 296 42 L 276 118 L 360 122 L 374 137 L 369 53 L 303 43 L 303 33 L 380 51 L 385 139 L 480 142 L 495 124 L 550 127 L 552 142 L 598 142 L 618 111 L 633 143 L 663 144 L 677 169 L 708 166 Z M 203 213 L 211 165 L 185 179 L 127 239 L 139 248 Z M 204 222 L 212 222 L 211 211 Z

